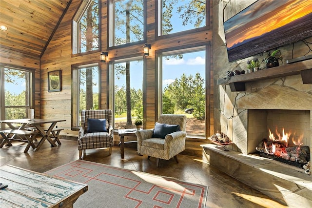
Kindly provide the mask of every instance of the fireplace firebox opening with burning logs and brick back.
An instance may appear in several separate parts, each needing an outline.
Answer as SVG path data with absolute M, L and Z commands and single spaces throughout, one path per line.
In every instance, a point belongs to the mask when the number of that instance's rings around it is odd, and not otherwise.
M 303 168 L 311 160 L 310 110 L 248 110 L 248 153 Z

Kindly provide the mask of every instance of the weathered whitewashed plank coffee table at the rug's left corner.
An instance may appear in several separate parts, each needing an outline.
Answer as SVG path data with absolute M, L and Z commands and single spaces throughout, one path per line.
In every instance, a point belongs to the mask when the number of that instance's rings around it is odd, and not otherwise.
M 1 166 L 0 182 L 8 187 L 0 190 L 3 207 L 73 208 L 88 185 L 47 176 L 16 166 Z

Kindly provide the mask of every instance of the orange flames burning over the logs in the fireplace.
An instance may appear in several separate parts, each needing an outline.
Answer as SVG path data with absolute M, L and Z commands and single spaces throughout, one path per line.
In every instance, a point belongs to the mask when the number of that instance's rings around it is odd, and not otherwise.
M 271 129 L 269 129 L 269 141 L 264 143 L 265 151 L 267 154 L 273 155 L 277 148 L 281 147 L 288 147 L 290 138 L 292 140 L 292 143 L 295 146 L 298 146 L 300 148 L 301 145 L 303 145 L 303 133 L 298 137 L 298 139 L 295 139 L 295 133 L 292 134 L 292 131 L 290 130 L 288 133 L 285 133 L 285 129 L 283 128 L 283 134 L 281 135 L 277 131 L 277 127 L 275 128 L 275 135 L 271 132 Z M 292 135 L 292 137 L 291 137 Z M 270 143 L 270 144 L 269 144 Z

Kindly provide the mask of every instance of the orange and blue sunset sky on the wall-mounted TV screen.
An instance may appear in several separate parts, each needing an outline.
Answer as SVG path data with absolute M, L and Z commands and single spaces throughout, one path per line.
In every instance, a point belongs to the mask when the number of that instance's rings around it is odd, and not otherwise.
M 261 0 L 259 3 L 252 12 L 247 10 L 224 25 L 227 48 L 253 40 L 312 13 L 310 0 Z

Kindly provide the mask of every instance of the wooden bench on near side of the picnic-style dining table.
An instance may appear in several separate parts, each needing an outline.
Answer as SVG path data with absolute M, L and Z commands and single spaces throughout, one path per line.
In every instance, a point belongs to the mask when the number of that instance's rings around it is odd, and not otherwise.
M 36 148 L 34 144 L 34 139 L 36 138 L 36 134 L 39 131 L 29 131 L 29 130 L 20 130 L 20 129 L 4 129 L 0 130 L 0 135 L 2 136 L 2 141 L 0 142 L 0 148 L 7 143 L 6 146 L 12 146 L 11 141 L 19 141 L 19 142 L 27 142 L 27 146 L 24 149 L 24 153 L 26 153 L 31 146 L 33 149 Z M 11 135 L 11 136 L 10 136 Z M 17 138 L 17 136 L 19 138 Z

